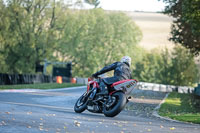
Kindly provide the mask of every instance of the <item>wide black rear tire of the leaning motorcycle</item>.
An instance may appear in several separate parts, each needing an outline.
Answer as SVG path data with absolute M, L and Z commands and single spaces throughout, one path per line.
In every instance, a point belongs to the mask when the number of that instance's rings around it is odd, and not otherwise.
M 107 117 L 114 117 L 118 115 L 126 105 L 126 96 L 123 92 L 116 92 L 112 94 L 112 97 L 116 98 L 115 103 L 111 107 L 103 107 L 103 113 Z

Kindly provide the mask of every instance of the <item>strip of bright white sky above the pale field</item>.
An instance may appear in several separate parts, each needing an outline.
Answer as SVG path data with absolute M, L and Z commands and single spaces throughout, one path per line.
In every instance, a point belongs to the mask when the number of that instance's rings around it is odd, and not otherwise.
M 158 0 L 100 0 L 100 7 L 105 10 L 123 11 L 163 11 L 165 4 Z

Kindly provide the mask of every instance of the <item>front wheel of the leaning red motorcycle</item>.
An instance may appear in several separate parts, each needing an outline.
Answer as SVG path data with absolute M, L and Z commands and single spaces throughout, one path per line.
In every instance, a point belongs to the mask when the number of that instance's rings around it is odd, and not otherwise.
M 76 103 L 75 103 L 75 105 L 74 105 L 74 111 L 75 111 L 76 113 L 81 113 L 81 112 L 83 112 L 83 111 L 86 110 L 86 108 L 87 108 L 87 99 L 88 99 L 87 94 L 84 93 L 84 94 L 76 101 Z

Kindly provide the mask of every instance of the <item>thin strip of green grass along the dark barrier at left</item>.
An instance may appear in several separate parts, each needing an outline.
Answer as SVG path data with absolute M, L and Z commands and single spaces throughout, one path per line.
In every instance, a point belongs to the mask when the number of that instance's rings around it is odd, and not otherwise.
M 21 84 L 21 85 L 1 85 L 0 90 L 5 89 L 56 89 L 56 88 L 67 88 L 83 86 L 82 84 L 71 84 L 71 83 L 42 83 L 42 84 Z

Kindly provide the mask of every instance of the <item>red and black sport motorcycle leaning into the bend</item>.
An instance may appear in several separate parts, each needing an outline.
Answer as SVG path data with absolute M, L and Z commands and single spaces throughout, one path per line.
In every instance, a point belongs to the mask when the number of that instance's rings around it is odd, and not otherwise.
M 88 110 L 93 113 L 103 113 L 106 117 L 118 115 L 131 99 L 130 93 L 137 85 L 137 80 L 128 79 L 107 86 L 108 94 L 101 94 L 99 83 L 101 78 L 88 78 L 87 91 L 74 105 L 76 113 Z M 101 81 L 102 82 L 102 81 Z

